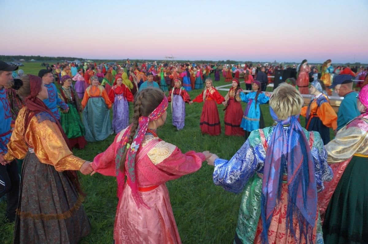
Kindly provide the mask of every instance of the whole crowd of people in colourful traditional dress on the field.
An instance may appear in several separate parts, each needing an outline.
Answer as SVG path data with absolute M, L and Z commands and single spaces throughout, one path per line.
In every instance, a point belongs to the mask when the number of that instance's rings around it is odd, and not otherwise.
M 38 76 L 19 70 L 14 79 L 18 67 L 0 61 L 0 197 L 7 197 L 7 220 L 15 221 L 14 243 L 78 243 L 91 232 L 77 171 L 116 177 L 115 243 L 181 243 L 165 182 L 198 171 L 204 161 L 214 166 L 216 186 L 243 194 L 234 243 L 366 243 L 368 80 L 354 92 L 353 77 L 362 79 L 364 72 L 355 75 L 346 67 L 337 74 L 330 64 L 315 76 L 304 60 L 295 67 L 297 79 L 269 93 L 272 69 L 282 65 L 127 60 L 55 64 Z M 231 82 L 225 97 L 213 86 L 212 73 L 215 82 L 220 75 Z M 307 106 L 305 87 L 312 95 Z M 193 100 L 192 89 L 202 90 Z M 337 114 L 328 89 L 344 97 Z M 221 133 L 222 104 L 225 135 L 245 137 L 231 159 L 209 151 L 182 153 L 159 138 L 169 103 L 172 123 L 182 130 L 185 103 L 194 102 L 204 102 L 203 134 Z M 241 102 L 247 103 L 244 111 Z M 269 127 L 260 109 L 266 103 L 275 121 Z M 72 154 L 73 147 L 114 133 L 113 143 L 92 162 Z

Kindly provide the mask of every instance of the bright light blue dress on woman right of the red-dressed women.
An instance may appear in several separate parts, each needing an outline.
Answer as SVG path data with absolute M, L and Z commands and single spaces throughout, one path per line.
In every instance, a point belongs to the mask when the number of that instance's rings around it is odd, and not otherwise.
M 249 132 L 259 129 L 259 118 L 261 117 L 261 108 L 259 108 L 259 105 L 268 103 L 270 98 L 262 92 L 258 94 L 257 103 L 255 103 L 257 92 L 250 92 L 248 94 L 241 92 L 239 95 L 241 101 L 248 103 L 244 110 L 240 127 Z

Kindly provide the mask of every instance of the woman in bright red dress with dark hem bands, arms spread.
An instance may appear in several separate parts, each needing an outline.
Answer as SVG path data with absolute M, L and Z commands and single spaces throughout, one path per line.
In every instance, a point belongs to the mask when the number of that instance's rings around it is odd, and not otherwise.
M 230 73 L 231 75 L 231 73 Z M 201 94 L 199 94 L 189 104 L 194 102 L 201 103 L 204 101 L 201 121 L 199 126 L 201 127 L 202 134 L 210 134 L 211 136 L 218 136 L 221 134 L 221 125 L 219 111 L 217 111 L 217 104 L 221 104 L 225 101 L 224 97 L 213 87 L 213 81 L 211 78 L 206 79 L 206 87 Z

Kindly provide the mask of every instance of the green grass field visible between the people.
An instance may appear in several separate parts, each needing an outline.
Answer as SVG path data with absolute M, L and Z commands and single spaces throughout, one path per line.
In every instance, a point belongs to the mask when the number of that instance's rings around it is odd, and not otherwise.
M 21 67 L 24 73 L 37 75 L 42 68 L 40 63 L 25 63 Z M 223 77 L 215 86 L 226 84 Z M 244 86 L 244 84 L 242 84 Z M 245 87 L 243 87 L 245 88 Z M 201 90 L 189 92 L 192 99 Z M 220 91 L 225 96 L 226 92 Z M 243 104 L 243 109 L 246 104 Z M 190 150 L 209 150 L 221 158 L 230 159 L 244 143 L 243 137 L 224 135 L 223 105 L 218 105 L 222 133 L 220 136 L 202 135 L 199 129 L 202 104 L 187 105 L 185 127 L 177 131 L 171 123 L 171 111 L 168 109 L 167 121 L 158 129 L 161 139 L 178 146 L 183 152 Z M 132 106 L 130 105 L 130 108 Z M 268 105 L 261 105 L 266 126 L 272 124 Z M 132 111 L 130 111 L 132 115 Z M 302 120 L 304 125 L 304 119 Z M 92 161 L 96 154 L 104 151 L 112 143 L 114 135 L 105 141 L 88 143 L 83 150 L 74 150 L 82 159 Z M 241 195 L 224 191 L 212 181 L 213 167 L 204 163 L 202 168 L 191 175 L 167 182 L 171 205 L 183 243 L 232 243 L 237 222 Z M 84 209 L 91 221 L 91 234 L 81 243 L 113 243 L 113 226 L 117 205 L 116 180 L 99 174 L 81 175 L 82 184 L 87 194 Z M 4 219 L 5 202 L 0 202 L 0 221 Z M 12 243 L 14 224 L 0 225 L 0 243 Z

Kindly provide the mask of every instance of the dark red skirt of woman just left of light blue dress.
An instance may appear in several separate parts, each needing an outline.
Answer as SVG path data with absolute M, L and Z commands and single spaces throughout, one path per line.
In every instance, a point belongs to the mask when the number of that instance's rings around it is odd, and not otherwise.
M 243 118 L 243 108 L 238 101 L 230 98 L 230 103 L 225 111 L 225 135 L 226 136 L 244 136 L 244 130 L 240 127 Z

